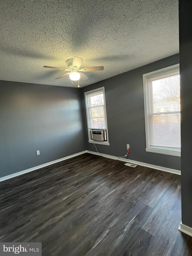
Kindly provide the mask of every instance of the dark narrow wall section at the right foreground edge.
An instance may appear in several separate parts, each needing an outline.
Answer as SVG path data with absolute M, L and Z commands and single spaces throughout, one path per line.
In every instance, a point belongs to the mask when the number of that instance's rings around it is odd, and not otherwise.
M 179 1 L 182 223 L 192 227 L 192 2 Z

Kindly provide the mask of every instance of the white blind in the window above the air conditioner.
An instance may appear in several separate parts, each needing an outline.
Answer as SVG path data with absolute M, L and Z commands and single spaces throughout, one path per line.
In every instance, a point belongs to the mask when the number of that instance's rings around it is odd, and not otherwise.
M 106 129 L 106 113 L 103 89 L 86 93 L 88 128 Z

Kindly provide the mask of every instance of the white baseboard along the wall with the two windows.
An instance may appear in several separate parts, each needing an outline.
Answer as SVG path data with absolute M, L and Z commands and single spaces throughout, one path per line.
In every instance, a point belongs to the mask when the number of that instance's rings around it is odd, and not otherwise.
M 143 162 L 138 162 L 138 161 L 134 161 L 134 160 L 119 158 L 117 156 L 107 155 L 107 154 L 98 153 L 98 152 L 89 151 L 89 150 L 87 150 L 86 152 L 90 153 L 90 154 L 94 154 L 94 155 L 101 155 L 101 156 L 104 156 L 104 157 L 107 157 L 107 158 L 110 158 L 110 159 L 114 159 L 114 160 L 124 161 L 124 162 L 131 163 L 131 164 L 137 164 L 137 165 L 149 167 L 149 168 L 164 171 L 164 172 L 175 173 L 175 174 L 181 175 L 181 171 L 179 171 L 179 170 L 174 170 L 174 169 L 161 167 L 161 166 L 157 166 L 157 165 L 153 165 L 153 164 L 146 164 L 146 163 L 143 163 Z

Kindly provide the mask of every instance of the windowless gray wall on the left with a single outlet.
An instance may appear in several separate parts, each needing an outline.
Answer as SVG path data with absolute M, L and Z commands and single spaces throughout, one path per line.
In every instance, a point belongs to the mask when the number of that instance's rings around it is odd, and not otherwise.
M 85 150 L 81 106 L 78 88 L 0 81 L 0 177 Z

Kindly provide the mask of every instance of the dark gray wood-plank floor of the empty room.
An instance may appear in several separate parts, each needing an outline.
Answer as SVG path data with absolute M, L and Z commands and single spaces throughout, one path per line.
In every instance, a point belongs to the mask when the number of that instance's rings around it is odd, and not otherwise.
M 42 255 L 192 255 L 180 176 L 84 154 L 0 183 L 0 242 Z

